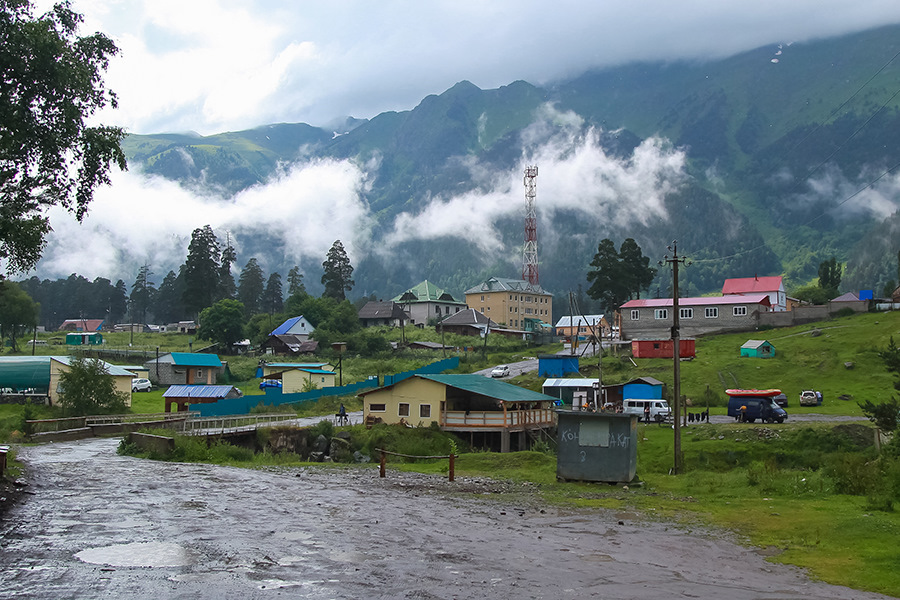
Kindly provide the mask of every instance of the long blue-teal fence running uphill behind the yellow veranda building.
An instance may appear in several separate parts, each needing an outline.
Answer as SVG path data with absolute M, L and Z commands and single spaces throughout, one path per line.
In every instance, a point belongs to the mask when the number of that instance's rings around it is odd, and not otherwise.
M 412 371 L 405 371 L 394 375 L 384 376 L 384 385 L 393 385 L 398 381 L 403 381 L 413 375 L 433 375 L 443 373 L 459 366 L 459 357 L 445 358 L 437 362 L 425 365 Z M 348 383 L 340 387 L 328 387 L 309 392 L 297 394 L 284 394 L 281 388 L 266 388 L 265 395 L 241 396 L 240 398 L 229 398 L 227 400 L 219 400 L 209 404 L 191 404 L 189 410 L 197 411 L 201 417 L 223 417 L 225 415 L 246 415 L 250 411 L 263 404 L 265 406 L 281 406 L 282 404 L 297 404 L 299 402 L 315 402 L 319 398 L 326 396 L 355 396 L 363 390 L 370 390 L 379 387 L 378 376 L 373 375 L 364 381 L 356 383 Z

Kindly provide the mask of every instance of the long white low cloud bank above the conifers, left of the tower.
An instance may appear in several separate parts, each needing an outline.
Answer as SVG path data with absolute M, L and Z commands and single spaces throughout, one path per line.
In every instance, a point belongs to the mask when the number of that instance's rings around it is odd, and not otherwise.
M 349 161 L 296 164 L 228 199 L 141 174 L 136 167 L 113 173 L 112 179 L 112 186 L 97 191 L 83 223 L 63 209 L 50 211 L 54 231 L 38 264 L 39 277 L 78 273 L 127 279 L 148 264 L 161 280 L 170 269 L 177 271 L 191 233 L 206 224 L 222 244 L 232 234 L 240 264 L 249 258 L 241 256 L 242 234 L 264 233 L 268 255 L 295 263 L 324 258 L 335 239 L 343 241 L 352 260 L 369 235 L 366 177 Z M 259 258 L 265 264 L 266 257 Z

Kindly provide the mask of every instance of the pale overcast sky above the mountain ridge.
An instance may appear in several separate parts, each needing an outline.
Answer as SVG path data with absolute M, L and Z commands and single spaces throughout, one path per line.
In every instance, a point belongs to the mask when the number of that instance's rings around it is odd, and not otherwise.
M 49 4 L 41 0 L 41 6 Z M 73 0 L 121 49 L 132 133 L 326 125 L 467 79 L 543 84 L 635 60 L 720 58 L 900 22 L 897 0 Z

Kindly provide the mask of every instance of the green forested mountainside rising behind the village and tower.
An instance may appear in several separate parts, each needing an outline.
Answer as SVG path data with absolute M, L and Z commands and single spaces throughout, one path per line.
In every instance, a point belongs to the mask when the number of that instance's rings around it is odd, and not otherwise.
M 361 172 L 366 227 L 344 240 L 360 257 L 351 295 L 390 297 L 425 278 L 459 295 L 490 275 L 518 276 L 525 164 L 541 169 L 541 284 L 557 295 L 585 285 L 601 239 L 626 237 L 654 260 L 677 239 L 694 260 L 688 293 L 753 274 L 784 274 L 790 289 L 832 256 L 847 265 L 842 291 L 880 293 L 897 278 L 900 249 L 898 40 L 900 28 L 886 27 L 543 88 L 461 82 L 339 131 L 279 124 L 130 136 L 125 148 L 132 168 L 222 202 L 288 165 L 349 161 Z M 249 225 L 228 228 L 237 264 L 267 256 L 286 272 L 290 241 Z M 321 260 L 296 261 L 312 291 Z M 663 271 L 648 292 L 668 285 Z

